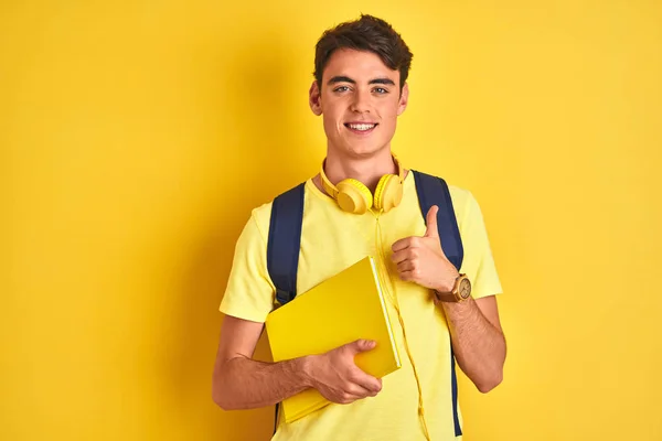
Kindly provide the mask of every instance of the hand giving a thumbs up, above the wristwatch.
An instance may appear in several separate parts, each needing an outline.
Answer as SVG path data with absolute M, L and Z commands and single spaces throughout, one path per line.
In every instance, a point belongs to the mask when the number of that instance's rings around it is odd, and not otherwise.
M 402 280 L 439 292 L 449 292 L 459 273 L 441 248 L 437 229 L 438 211 L 437 205 L 433 205 L 428 211 L 427 229 L 423 237 L 406 237 L 393 244 L 391 259 L 397 265 L 397 272 Z

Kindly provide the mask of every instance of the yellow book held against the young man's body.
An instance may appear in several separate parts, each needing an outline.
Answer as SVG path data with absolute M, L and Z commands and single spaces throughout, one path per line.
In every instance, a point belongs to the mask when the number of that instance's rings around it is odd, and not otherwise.
M 269 313 L 267 335 L 274 362 L 323 354 L 359 338 L 374 349 L 356 355 L 365 373 L 382 378 L 401 367 L 375 261 L 366 257 Z M 286 422 L 329 405 L 317 389 L 282 402 Z

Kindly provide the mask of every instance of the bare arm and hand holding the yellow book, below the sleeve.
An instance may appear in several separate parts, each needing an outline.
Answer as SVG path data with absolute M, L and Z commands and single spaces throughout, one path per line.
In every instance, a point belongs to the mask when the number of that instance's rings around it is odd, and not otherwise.
M 279 363 L 253 359 L 264 323 L 226 315 L 214 366 L 212 396 L 224 410 L 271 406 L 314 387 L 333 402 L 374 397 L 382 381 L 363 373 L 354 356 L 374 347 L 356 341 L 322 355 Z

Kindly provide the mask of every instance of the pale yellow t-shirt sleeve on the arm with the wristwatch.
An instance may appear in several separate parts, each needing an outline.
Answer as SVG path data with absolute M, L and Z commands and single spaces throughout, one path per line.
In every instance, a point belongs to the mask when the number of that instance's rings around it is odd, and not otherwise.
M 496 273 L 488 232 L 482 212 L 473 195 L 467 191 L 468 197 L 460 222 L 460 235 L 465 248 L 462 272 L 471 280 L 474 299 L 502 293 L 501 281 Z

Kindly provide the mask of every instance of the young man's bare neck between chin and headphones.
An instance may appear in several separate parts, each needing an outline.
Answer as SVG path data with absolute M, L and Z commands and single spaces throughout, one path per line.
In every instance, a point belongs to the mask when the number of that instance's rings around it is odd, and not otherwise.
M 366 158 L 346 158 L 329 150 L 324 173 L 333 185 L 351 178 L 362 182 L 374 193 L 380 179 L 385 174 L 397 174 L 397 166 L 393 161 L 391 149 L 384 149 Z

